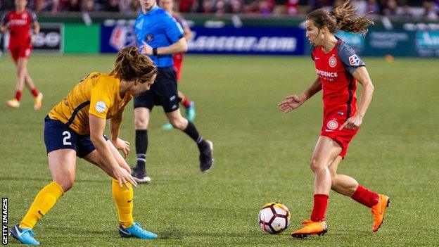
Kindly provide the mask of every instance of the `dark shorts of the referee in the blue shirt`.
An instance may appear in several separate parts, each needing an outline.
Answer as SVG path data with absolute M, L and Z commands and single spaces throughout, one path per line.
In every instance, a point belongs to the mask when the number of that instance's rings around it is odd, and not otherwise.
M 134 108 L 163 106 L 165 113 L 179 108 L 177 75 L 173 67 L 158 68 L 157 77 L 148 91 L 134 97 Z

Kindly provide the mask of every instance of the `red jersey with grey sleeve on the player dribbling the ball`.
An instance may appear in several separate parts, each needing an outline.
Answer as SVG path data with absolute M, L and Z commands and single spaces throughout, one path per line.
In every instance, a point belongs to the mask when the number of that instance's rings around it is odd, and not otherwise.
M 357 80 L 352 73 L 364 66 L 364 62 L 341 39 L 328 53 L 323 51 L 322 46 L 314 47 L 312 60 L 322 82 L 324 118 L 337 115 L 347 120 L 357 112 Z

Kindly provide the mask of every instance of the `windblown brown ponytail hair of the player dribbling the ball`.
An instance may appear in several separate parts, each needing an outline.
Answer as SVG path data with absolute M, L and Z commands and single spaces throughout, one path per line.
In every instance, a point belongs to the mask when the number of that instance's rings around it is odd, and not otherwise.
M 334 8 L 330 13 L 324 8 L 319 8 L 307 15 L 306 20 L 313 20 L 317 28 L 326 26 L 331 34 L 338 30 L 346 32 L 367 33 L 367 26 L 374 25 L 374 21 L 355 13 L 356 9 L 350 4 L 351 0 L 345 1 L 341 6 Z

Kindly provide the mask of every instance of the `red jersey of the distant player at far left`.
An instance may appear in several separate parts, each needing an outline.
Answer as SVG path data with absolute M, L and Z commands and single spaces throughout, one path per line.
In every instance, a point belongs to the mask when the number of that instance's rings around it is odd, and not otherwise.
M 8 26 L 9 49 L 19 46 L 32 46 L 30 42 L 30 24 L 37 20 L 34 11 L 25 8 L 21 13 L 9 11 L 4 15 L 1 22 Z

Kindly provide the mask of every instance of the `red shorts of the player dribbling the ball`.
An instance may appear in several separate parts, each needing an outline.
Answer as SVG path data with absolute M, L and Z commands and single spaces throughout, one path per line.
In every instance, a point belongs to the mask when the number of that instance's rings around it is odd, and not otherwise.
M 336 141 L 338 145 L 341 146 L 341 152 L 339 156 L 341 158 L 345 158 L 346 152 L 348 151 L 348 146 L 350 143 L 350 140 L 355 137 L 355 134 L 357 134 L 358 129 L 346 129 L 343 127 L 343 129 L 339 130 L 341 125 L 346 122 L 346 117 L 343 116 L 343 118 L 340 117 L 333 117 L 333 118 L 325 118 L 323 120 L 323 126 L 322 126 L 322 133 L 321 136 L 329 137 Z

